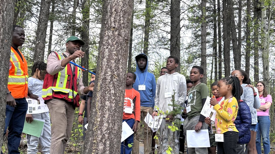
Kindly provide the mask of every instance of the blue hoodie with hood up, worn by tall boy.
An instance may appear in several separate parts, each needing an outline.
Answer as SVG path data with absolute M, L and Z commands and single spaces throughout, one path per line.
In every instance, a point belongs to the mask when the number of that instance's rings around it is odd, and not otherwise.
M 133 84 L 133 88 L 140 93 L 140 106 L 154 107 L 155 106 L 155 95 L 156 95 L 156 78 L 155 75 L 148 72 L 148 58 L 147 55 L 141 53 L 138 56 L 147 59 L 146 68 L 144 71 L 138 67 L 138 59 L 136 59 L 136 82 Z M 145 90 L 138 90 L 139 85 L 145 85 Z

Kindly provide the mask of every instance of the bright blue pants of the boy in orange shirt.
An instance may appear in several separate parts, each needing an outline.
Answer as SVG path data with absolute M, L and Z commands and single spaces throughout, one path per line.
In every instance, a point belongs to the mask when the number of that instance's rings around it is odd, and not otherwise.
M 123 119 L 122 122 L 126 121 L 126 123 L 133 128 L 135 119 Z M 134 134 L 129 136 L 123 142 L 121 142 L 120 154 L 131 154 L 132 147 L 128 147 L 128 144 L 132 144 L 134 142 Z M 133 144 L 132 144 L 133 145 Z

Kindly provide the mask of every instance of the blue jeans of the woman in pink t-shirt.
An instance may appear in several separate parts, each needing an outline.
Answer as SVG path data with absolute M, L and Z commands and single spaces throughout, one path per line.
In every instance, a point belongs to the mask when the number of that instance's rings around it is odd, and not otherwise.
M 269 129 L 270 119 L 269 116 L 258 116 L 258 131 L 256 135 L 256 149 L 257 153 L 262 153 L 261 139 L 263 140 L 263 150 L 265 154 L 270 152 L 270 141 L 269 141 Z

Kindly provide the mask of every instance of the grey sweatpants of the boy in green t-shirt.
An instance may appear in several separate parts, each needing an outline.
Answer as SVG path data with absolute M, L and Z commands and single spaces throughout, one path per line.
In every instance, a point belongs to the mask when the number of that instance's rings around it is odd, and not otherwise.
M 188 117 L 183 121 L 183 131 L 186 142 L 186 130 L 195 130 L 195 126 L 199 122 L 200 115 L 194 116 L 189 119 Z M 202 122 L 202 129 L 208 129 L 208 125 L 205 122 Z M 186 142 L 187 143 L 187 142 Z M 188 143 L 187 143 L 188 144 Z M 188 154 L 208 154 L 207 148 L 189 148 L 187 147 Z

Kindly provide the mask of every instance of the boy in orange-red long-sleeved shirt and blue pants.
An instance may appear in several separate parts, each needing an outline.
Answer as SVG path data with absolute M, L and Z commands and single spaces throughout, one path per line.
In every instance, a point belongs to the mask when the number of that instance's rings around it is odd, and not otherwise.
M 125 98 L 123 107 L 123 120 L 133 129 L 134 132 L 138 129 L 140 119 L 140 95 L 139 92 L 133 89 L 133 84 L 136 80 L 136 74 L 128 72 L 126 74 Z M 121 142 L 120 154 L 131 154 L 134 134 Z

